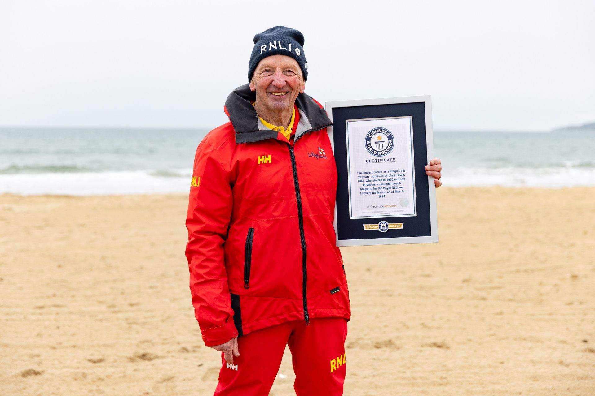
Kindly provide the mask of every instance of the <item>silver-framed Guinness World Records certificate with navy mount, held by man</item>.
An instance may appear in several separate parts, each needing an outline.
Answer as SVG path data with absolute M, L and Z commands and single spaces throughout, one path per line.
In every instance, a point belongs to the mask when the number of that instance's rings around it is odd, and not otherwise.
M 327 102 L 337 246 L 438 242 L 430 96 Z

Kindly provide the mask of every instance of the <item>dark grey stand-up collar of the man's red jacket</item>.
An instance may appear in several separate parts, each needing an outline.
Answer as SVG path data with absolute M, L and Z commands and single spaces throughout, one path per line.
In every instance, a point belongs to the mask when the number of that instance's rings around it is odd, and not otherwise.
M 252 106 L 255 100 L 256 93 L 250 91 L 249 84 L 237 87 L 227 97 L 225 110 L 236 131 L 236 144 L 277 138 L 277 131 L 268 129 L 259 122 Z M 305 133 L 320 131 L 333 125 L 320 104 L 305 93 L 297 95 L 296 104 L 300 119 L 295 140 Z

